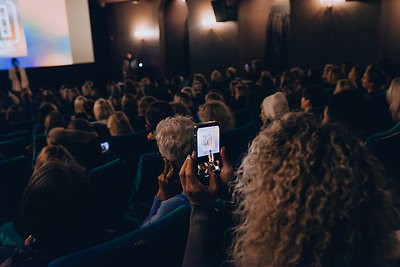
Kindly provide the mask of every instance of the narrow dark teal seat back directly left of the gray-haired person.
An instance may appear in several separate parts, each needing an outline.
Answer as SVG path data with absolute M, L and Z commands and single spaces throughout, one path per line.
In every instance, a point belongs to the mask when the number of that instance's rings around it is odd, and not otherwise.
M 147 153 L 139 158 L 136 180 L 129 197 L 129 209 L 125 218 L 138 226 L 150 212 L 151 204 L 158 190 L 158 176 L 164 170 L 160 153 Z

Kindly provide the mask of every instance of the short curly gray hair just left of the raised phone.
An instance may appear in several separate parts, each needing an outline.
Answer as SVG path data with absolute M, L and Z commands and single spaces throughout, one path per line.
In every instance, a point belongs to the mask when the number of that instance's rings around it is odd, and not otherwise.
M 158 123 L 155 136 L 158 149 L 166 157 L 182 166 L 194 149 L 194 126 L 189 116 L 175 115 Z

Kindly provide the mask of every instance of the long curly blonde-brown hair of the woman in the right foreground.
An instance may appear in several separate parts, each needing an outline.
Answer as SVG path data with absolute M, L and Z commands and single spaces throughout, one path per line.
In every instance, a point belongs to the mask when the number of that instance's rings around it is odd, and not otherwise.
M 260 132 L 234 188 L 235 266 L 376 266 L 393 245 L 381 164 L 312 115 L 288 113 Z

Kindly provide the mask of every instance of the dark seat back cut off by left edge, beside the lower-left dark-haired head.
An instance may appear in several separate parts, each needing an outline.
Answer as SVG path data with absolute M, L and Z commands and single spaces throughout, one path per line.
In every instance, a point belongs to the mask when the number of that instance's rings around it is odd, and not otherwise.
M 27 156 L 0 161 L 0 224 L 14 218 L 31 174 Z

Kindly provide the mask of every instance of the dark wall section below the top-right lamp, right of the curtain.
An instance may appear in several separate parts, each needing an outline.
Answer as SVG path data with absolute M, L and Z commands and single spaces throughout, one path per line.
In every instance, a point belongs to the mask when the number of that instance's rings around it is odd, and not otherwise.
M 368 64 L 378 57 L 379 30 L 379 3 L 346 2 L 329 9 L 319 0 L 292 0 L 290 63 Z

